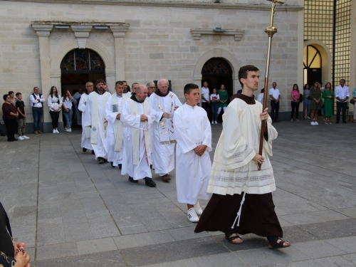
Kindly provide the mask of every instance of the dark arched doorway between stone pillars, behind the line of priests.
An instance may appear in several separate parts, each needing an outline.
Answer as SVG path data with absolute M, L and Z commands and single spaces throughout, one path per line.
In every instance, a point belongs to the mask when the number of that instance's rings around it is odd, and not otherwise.
M 105 63 L 98 53 L 90 49 L 73 49 L 61 62 L 61 95 L 69 90 L 74 96 L 79 89 L 85 90 L 85 83 L 94 83 L 98 78 L 105 80 Z M 81 125 L 78 103 L 73 107 L 73 125 Z

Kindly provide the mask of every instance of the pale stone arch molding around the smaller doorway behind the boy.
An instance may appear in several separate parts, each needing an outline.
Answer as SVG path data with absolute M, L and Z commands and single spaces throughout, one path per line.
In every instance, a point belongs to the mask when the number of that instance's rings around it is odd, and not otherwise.
M 233 92 L 236 90 L 236 86 L 239 85 L 239 61 L 235 57 L 233 53 L 230 53 L 221 48 L 213 48 L 209 51 L 206 51 L 203 55 L 201 55 L 197 61 L 197 64 L 194 66 L 193 71 L 193 83 L 197 85 L 201 85 L 201 70 L 203 69 L 206 61 L 209 61 L 210 58 L 224 58 L 230 66 L 232 70 L 232 81 L 233 81 Z

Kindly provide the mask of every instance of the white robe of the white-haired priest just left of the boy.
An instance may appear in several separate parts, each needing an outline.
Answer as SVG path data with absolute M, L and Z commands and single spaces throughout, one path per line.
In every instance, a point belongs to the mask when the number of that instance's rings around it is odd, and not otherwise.
M 156 93 L 150 95 L 150 104 L 156 112 L 155 122 L 153 122 L 152 141 L 152 166 L 155 173 L 163 176 L 174 169 L 174 107 L 181 106 L 182 103 L 172 92 L 166 96 L 159 96 Z M 167 112 L 170 118 L 162 118 L 163 112 Z M 161 120 L 162 119 L 162 120 Z

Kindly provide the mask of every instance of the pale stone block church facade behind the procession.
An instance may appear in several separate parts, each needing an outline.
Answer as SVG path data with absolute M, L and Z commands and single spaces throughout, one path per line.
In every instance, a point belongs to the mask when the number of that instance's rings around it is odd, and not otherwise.
M 229 1 L 1 1 L 0 92 L 21 92 L 31 127 L 28 97 L 33 87 L 48 97 L 61 91 L 63 58 L 74 49 L 90 49 L 105 63 L 111 91 L 115 81 L 129 85 L 167 78 L 184 100 L 186 83 L 201 85 L 202 69 L 211 58 L 226 61 L 231 70 L 229 92 L 241 88 L 238 70 L 252 64 L 266 68 L 271 2 Z M 303 87 L 303 1 L 277 6 L 272 41 L 269 87 L 281 90 L 280 112 L 290 111 L 290 90 Z M 215 75 L 218 77 L 219 75 Z M 206 77 L 206 74 L 205 74 Z M 51 118 L 44 105 L 44 130 Z M 288 114 L 288 115 L 287 115 Z

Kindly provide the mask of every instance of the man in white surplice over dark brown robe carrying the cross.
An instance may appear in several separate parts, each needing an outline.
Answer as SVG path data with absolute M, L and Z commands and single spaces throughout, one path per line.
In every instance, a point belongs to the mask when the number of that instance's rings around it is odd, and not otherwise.
M 255 66 L 239 70 L 243 85 L 223 115 L 223 130 L 216 145 L 208 192 L 213 193 L 196 232 L 222 231 L 231 244 L 243 242 L 240 234 L 266 236 L 268 248 L 285 248 L 283 231 L 274 210 L 271 192 L 276 190 L 272 142 L 278 133 L 268 116 L 268 108 L 254 100 L 259 71 Z M 261 121 L 266 120 L 263 152 L 258 154 Z M 261 164 L 261 168 L 258 166 Z

